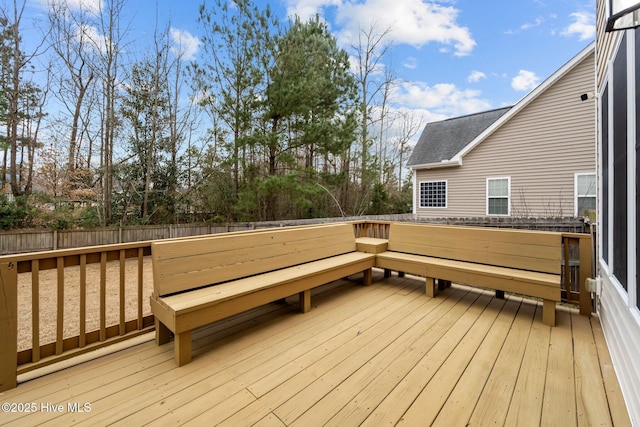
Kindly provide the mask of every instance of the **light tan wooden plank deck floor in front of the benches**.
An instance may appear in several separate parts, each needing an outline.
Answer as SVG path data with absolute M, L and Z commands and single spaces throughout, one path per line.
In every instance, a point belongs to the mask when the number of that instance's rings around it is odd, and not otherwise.
M 432 299 L 380 271 L 297 308 L 198 330 L 181 368 L 173 343 L 145 342 L 25 382 L 0 402 L 35 413 L 3 405 L 0 425 L 630 425 L 600 323 L 577 309 L 551 328 L 541 303 L 456 285 Z

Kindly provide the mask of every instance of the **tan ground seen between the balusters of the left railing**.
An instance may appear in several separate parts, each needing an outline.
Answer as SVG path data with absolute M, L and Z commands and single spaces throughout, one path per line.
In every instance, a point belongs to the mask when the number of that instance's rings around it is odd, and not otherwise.
M 107 264 L 106 321 L 107 326 L 120 323 L 120 263 Z M 80 267 L 64 269 L 64 338 L 80 333 Z M 126 320 L 138 316 L 138 260 L 125 262 L 125 316 Z M 56 340 L 57 326 L 57 271 L 40 272 L 40 345 Z M 142 307 L 144 315 L 151 314 L 149 296 L 153 291 L 151 258 L 145 257 L 143 271 Z M 31 348 L 32 333 L 31 273 L 18 277 L 18 351 Z M 100 264 L 87 265 L 86 331 L 100 328 Z

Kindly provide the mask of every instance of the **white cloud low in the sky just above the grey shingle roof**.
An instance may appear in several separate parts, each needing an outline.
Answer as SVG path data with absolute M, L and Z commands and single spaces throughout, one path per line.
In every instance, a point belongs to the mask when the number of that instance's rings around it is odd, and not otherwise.
M 394 99 L 402 100 L 407 107 L 429 111 L 431 118 L 441 119 L 491 108 L 481 94 L 479 90 L 460 89 L 451 83 L 429 86 L 423 82 L 406 82 L 396 88 Z

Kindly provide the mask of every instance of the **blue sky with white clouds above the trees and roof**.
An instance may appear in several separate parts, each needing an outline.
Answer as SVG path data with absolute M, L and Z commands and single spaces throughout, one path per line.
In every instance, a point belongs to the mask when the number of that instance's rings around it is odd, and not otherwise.
M 60 0 L 58 0 L 60 1 Z M 96 4 L 101 0 L 65 0 Z M 46 0 L 31 0 L 37 14 Z M 31 3 L 27 0 L 27 3 Z M 212 5 L 213 2 L 207 2 Z M 266 4 L 265 2 L 257 2 Z M 125 21 L 144 45 L 155 9 L 197 58 L 200 0 L 130 0 Z M 400 84 L 395 108 L 425 121 L 511 105 L 595 36 L 593 0 L 274 0 L 281 20 L 318 13 L 347 47 L 359 29 L 389 29 L 388 60 Z

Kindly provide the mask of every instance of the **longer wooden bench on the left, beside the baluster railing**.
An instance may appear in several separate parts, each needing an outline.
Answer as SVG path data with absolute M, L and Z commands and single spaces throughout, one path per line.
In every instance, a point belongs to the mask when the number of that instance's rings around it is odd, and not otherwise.
M 191 361 L 193 329 L 295 294 L 306 312 L 312 288 L 359 272 L 370 284 L 375 262 L 350 224 L 158 241 L 151 254 L 156 342 L 173 333 L 178 366 Z

